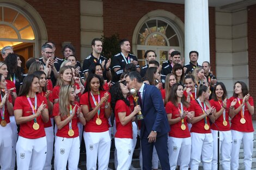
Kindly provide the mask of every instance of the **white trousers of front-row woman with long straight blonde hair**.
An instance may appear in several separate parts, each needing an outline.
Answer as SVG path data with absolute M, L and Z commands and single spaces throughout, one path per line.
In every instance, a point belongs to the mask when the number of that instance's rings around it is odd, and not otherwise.
M 79 137 L 66 138 L 56 136 L 55 139 L 54 169 L 66 170 L 66 162 L 68 161 L 68 169 L 77 170 L 80 156 Z

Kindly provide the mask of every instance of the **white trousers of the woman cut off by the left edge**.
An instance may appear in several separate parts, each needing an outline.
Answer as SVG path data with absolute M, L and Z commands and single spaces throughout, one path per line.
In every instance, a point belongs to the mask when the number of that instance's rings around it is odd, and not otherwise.
M 9 170 L 11 167 L 11 158 L 13 157 L 13 133 L 11 125 L 8 123 L 5 127 L 0 125 L 0 166 L 1 170 Z M 14 156 L 15 158 L 15 156 Z M 15 162 L 14 162 L 15 163 Z

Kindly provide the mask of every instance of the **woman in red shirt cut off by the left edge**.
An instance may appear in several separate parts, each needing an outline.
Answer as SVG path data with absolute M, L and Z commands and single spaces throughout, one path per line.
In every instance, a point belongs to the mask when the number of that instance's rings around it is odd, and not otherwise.
M 15 155 L 12 153 L 13 149 L 13 133 L 11 131 L 10 116 L 13 115 L 13 104 L 11 103 L 10 90 L 6 89 L 7 81 L 4 75 L 0 74 L 0 89 L 1 89 L 1 103 L 0 103 L 0 166 L 1 169 L 9 169 L 11 167 L 11 159 Z

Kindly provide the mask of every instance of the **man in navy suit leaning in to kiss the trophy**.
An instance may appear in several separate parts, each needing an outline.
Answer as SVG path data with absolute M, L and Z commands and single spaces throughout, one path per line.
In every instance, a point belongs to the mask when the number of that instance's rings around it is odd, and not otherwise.
M 153 147 L 155 146 L 157 155 L 163 170 L 169 170 L 168 155 L 168 132 L 170 126 L 164 110 L 163 100 L 159 89 L 155 86 L 142 83 L 141 75 L 130 72 L 126 77 L 126 85 L 134 87 L 138 91 L 141 100 L 141 108 L 144 119 L 141 121 L 141 146 L 143 169 L 151 170 Z

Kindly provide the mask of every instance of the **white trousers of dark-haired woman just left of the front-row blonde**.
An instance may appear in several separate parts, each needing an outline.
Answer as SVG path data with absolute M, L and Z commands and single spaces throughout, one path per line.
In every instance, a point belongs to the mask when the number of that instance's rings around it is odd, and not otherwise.
M 46 137 L 31 139 L 19 136 L 16 144 L 17 170 L 29 169 L 30 163 L 33 170 L 43 169 L 46 152 Z

